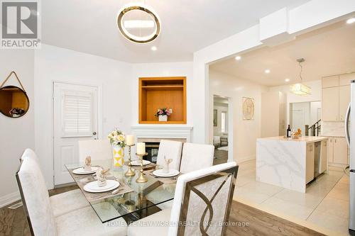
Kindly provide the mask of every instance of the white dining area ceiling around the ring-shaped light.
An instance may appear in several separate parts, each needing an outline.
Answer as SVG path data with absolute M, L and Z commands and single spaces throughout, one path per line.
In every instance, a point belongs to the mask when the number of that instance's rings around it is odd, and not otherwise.
M 160 16 L 162 31 L 153 43 L 137 45 L 116 27 L 117 13 L 129 0 L 45 0 L 42 42 L 124 62 L 190 61 L 193 52 L 255 25 L 259 18 L 307 1 L 145 0 Z M 158 50 L 151 51 L 152 45 Z

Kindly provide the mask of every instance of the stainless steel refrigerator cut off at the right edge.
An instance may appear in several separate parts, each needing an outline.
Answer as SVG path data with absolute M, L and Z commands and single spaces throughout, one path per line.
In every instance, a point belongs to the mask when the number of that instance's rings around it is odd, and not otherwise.
M 355 235 L 355 80 L 351 81 L 351 99 L 345 116 L 345 136 L 350 148 L 349 233 Z

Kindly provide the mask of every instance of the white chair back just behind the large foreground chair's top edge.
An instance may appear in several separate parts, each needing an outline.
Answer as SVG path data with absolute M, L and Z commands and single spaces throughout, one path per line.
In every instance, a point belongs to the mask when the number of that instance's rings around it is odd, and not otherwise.
M 185 142 L 182 147 L 180 172 L 186 174 L 197 169 L 212 167 L 213 157 L 213 145 Z

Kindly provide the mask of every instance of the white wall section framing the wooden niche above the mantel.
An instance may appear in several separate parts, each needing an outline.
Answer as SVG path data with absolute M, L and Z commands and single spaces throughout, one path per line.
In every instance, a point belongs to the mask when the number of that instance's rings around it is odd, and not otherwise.
M 138 79 L 139 77 L 186 77 L 187 125 L 192 125 L 192 62 L 132 64 L 131 125 L 138 125 Z

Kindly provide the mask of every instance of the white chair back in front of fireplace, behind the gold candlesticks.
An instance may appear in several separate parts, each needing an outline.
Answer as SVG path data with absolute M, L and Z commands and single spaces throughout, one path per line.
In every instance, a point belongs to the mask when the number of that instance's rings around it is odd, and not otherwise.
M 180 167 L 180 159 L 181 159 L 181 151 L 182 151 L 182 142 L 178 141 L 170 141 L 170 140 L 161 140 L 158 150 L 158 159 L 157 164 L 164 166 L 166 159 L 173 159 L 173 162 L 169 164 L 171 169 L 179 170 Z

